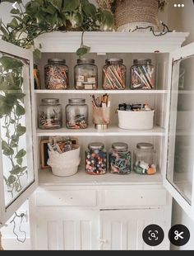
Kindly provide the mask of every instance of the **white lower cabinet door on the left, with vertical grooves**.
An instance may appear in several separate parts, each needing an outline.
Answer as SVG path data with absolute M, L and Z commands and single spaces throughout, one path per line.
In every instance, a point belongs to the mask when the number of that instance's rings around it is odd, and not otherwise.
M 99 211 L 36 208 L 34 249 L 99 249 Z

